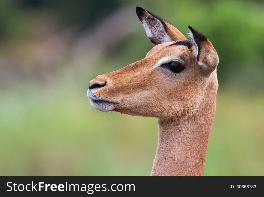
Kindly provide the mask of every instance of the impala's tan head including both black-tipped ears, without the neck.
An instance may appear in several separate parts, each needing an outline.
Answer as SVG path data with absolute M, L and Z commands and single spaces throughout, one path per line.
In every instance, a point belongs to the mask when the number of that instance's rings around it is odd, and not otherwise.
M 190 116 L 209 83 L 218 84 L 217 52 L 190 26 L 191 39 L 187 40 L 149 11 L 137 7 L 136 12 L 155 46 L 146 58 L 93 79 L 87 91 L 91 105 L 100 111 L 161 119 Z

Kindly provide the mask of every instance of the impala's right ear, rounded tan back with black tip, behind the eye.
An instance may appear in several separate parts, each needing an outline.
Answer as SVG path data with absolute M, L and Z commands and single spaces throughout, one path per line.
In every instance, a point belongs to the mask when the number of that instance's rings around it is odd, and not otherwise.
M 195 43 L 194 55 L 197 58 L 198 64 L 202 70 L 209 74 L 213 72 L 218 65 L 219 58 L 210 40 L 207 37 L 188 26 L 190 30 L 190 37 Z

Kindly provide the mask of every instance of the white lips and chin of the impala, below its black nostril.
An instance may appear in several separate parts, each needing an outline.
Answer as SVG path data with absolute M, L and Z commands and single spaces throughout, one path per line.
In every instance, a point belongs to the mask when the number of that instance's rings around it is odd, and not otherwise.
M 87 97 L 89 98 L 91 106 L 93 106 L 95 109 L 98 109 L 99 111 L 108 112 L 115 109 L 115 103 L 95 95 L 93 90 L 88 89 Z

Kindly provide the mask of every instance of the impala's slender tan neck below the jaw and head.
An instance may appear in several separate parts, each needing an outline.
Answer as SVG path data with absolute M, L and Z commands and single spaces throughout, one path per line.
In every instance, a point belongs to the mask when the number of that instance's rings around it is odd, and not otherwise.
M 206 92 L 203 104 L 191 118 L 158 121 L 158 147 L 152 176 L 204 175 L 206 150 L 216 106 L 217 88 L 214 89 L 207 89 L 209 92 Z

